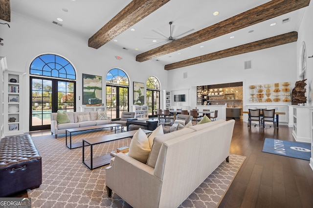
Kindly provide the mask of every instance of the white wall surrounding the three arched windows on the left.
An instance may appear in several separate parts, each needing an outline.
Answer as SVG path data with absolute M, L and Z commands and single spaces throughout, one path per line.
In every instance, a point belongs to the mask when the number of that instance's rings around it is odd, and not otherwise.
M 51 23 L 52 24 L 52 23 Z M 60 32 L 58 25 L 55 30 L 43 27 L 38 23 L 24 19 L 15 13 L 11 15 L 10 28 L 1 26 L 1 38 L 4 46 L 0 46 L 0 56 L 6 57 L 8 70 L 26 73 L 23 77 L 21 97 L 23 100 L 22 122 L 23 131 L 29 131 L 29 66 L 32 60 L 45 53 L 53 53 L 67 58 L 77 73 L 76 108 L 82 105 L 82 74 L 102 76 L 103 80 L 112 68 L 123 69 L 130 78 L 130 109 L 133 103 L 133 81 L 146 83 L 149 76 L 156 76 L 161 89 L 168 89 L 167 74 L 164 66 L 151 61 L 137 62 L 135 57 L 117 52 L 106 45 L 98 50 L 88 47 L 88 39 L 70 36 Z M 131 49 L 130 49 L 131 50 Z M 121 56 L 117 60 L 115 56 Z M 105 81 L 103 81 L 103 97 L 105 97 Z

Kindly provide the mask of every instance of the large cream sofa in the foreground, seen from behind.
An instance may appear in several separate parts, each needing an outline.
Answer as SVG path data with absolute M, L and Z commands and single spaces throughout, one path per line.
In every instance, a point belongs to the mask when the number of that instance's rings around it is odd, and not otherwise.
M 117 153 L 106 168 L 112 190 L 134 208 L 176 208 L 225 159 L 234 120 L 218 120 L 156 136 L 147 164 Z

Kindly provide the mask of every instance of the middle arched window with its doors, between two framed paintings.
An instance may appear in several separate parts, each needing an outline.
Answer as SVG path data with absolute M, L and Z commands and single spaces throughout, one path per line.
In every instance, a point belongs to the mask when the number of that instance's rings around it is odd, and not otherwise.
M 107 114 L 120 118 L 122 112 L 129 111 L 129 78 L 121 69 L 111 69 L 106 76 Z

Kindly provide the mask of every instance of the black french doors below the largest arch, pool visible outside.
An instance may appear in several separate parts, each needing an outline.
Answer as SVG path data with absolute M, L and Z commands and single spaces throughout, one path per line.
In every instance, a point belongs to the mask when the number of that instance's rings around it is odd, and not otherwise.
M 50 129 L 50 113 L 75 112 L 74 81 L 30 77 L 29 131 Z

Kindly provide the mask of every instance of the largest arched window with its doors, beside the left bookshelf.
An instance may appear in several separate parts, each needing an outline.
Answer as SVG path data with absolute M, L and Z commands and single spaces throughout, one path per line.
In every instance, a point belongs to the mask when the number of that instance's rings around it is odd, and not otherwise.
M 76 111 L 76 73 L 64 57 L 45 54 L 30 64 L 30 131 L 50 129 L 50 114 Z

